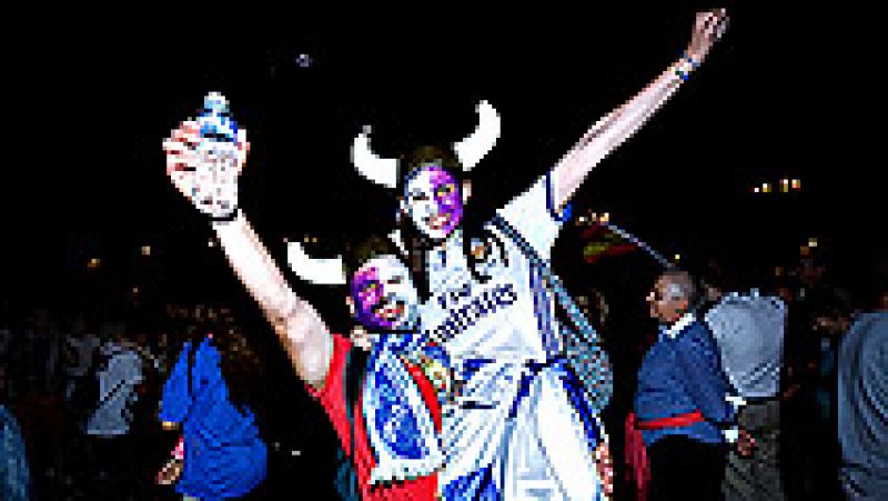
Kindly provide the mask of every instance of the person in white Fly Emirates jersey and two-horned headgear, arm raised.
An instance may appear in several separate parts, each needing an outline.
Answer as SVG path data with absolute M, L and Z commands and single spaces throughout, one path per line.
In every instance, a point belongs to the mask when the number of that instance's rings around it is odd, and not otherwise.
M 498 116 L 478 106 L 481 124 L 446 151 L 420 149 L 402 160 L 357 136 L 353 162 L 367 179 L 400 191 L 393 240 L 410 257 L 425 299 L 424 333 L 443 343 L 460 391 L 445 411 L 448 499 L 589 500 L 608 495 L 607 455 L 597 411 L 566 362 L 548 269 L 568 218 L 567 201 L 591 170 L 633 136 L 705 59 L 725 28 L 724 9 L 697 14 L 682 58 L 597 123 L 554 168 L 500 209 L 481 234 L 465 234 L 463 202 L 473 168 L 498 137 Z M 554 290 L 553 290 L 554 289 Z M 588 378 L 588 374 L 582 374 Z M 591 450 L 596 452 L 591 454 Z M 597 470 L 597 471 L 596 471 Z

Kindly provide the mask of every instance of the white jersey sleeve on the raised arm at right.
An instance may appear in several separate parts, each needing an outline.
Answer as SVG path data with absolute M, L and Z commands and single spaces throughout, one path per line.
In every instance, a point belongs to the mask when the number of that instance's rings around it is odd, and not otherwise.
M 571 217 L 569 204 L 558 213 L 552 200 L 552 183 L 546 174 L 497 211 L 543 259 L 549 259 L 558 231 Z

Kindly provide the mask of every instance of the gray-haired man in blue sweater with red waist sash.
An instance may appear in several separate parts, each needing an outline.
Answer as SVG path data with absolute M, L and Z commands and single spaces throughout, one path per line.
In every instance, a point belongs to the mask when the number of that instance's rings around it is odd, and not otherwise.
M 648 480 L 653 500 L 720 499 L 725 443 L 738 438 L 718 348 L 690 311 L 695 295 L 687 272 L 668 270 L 647 297 L 659 337 L 642 362 L 635 412 L 626 422 L 627 462 L 639 499 Z M 748 453 L 748 435 L 738 445 Z

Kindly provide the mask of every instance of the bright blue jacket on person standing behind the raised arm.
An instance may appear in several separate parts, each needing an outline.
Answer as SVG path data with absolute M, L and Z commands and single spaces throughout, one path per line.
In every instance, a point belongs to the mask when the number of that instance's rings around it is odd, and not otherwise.
M 184 457 L 176 492 L 189 498 L 240 498 L 266 474 L 266 447 L 255 415 L 233 402 L 222 358 L 212 333 L 185 342 L 163 388 L 160 419 L 167 429 L 182 425 Z

